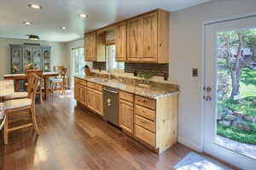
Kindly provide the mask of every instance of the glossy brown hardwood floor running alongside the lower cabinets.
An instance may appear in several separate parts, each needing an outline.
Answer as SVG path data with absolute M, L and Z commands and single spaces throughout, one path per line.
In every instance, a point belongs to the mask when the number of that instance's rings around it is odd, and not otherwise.
M 1 144 L 0 169 L 172 169 L 189 148 L 176 144 L 157 156 L 151 150 L 77 108 L 72 95 L 55 94 L 37 105 L 37 137 L 31 128 L 10 133 Z

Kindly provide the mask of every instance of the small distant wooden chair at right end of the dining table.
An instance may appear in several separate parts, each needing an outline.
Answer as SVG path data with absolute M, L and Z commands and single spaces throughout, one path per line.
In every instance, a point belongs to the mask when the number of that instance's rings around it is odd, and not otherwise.
M 51 78 L 49 80 L 50 94 L 54 94 L 54 91 L 56 90 L 56 87 L 59 84 L 61 85 L 62 94 L 66 94 L 65 81 L 66 81 L 66 77 L 67 77 L 67 68 L 62 69 L 60 76 L 61 76 L 61 78 Z

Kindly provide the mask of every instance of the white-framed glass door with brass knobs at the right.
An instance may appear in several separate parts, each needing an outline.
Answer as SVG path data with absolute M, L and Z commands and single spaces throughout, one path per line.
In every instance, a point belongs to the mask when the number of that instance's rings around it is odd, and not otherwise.
M 256 169 L 256 17 L 206 26 L 204 151 Z

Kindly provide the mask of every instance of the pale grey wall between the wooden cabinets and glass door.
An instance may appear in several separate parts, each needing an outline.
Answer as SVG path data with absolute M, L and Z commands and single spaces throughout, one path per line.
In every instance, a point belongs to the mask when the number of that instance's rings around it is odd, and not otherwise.
M 234 15 L 256 14 L 255 0 L 213 0 L 171 14 L 170 79 L 180 85 L 178 141 L 195 150 L 202 146 L 203 23 Z M 191 77 L 192 68 L 200 76 Z

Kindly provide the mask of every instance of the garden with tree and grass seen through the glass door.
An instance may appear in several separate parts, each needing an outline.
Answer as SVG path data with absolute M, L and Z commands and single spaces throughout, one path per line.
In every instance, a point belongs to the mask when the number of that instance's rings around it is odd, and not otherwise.
M 251 54 L 245 54 L 245 48 L 250 49 Z M 226 78 L 222 82 L 227 87 L 218 89 L 218 93 L 221 91 L 218 96 L 218 114 L 225 115 L 232 111 L 256 119 L 256 67 L 252 67 L 255 48 L 256 29 L 218 34 L 218 75 Z M 229 126 L 218 124 L 218 135 L 241 143 L 256 144 L 256 122 L 242 120 L 239 126 L 244 128 L 239 128 L 233 123 L 236 121 L 231 121 Z

